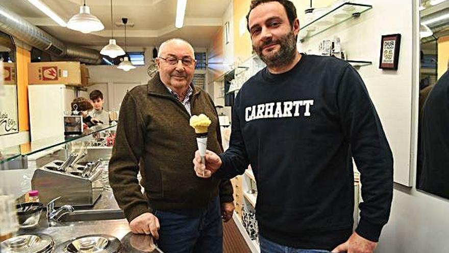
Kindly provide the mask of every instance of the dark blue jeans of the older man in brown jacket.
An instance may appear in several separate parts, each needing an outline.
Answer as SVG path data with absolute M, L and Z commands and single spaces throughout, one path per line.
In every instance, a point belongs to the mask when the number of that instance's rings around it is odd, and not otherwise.
M 196 213 L 155 211 L 159 219 L 158 247 L 164 253 L 222 253 L 223 227 L 218 197 Z

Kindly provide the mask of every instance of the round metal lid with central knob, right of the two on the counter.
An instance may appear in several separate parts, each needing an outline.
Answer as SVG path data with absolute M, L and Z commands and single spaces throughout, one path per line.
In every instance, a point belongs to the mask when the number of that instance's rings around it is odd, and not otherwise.
M 117 253 L 120 241 L 109 235 L 87 235 L 61 243 L 55 252 L 59 253 Z

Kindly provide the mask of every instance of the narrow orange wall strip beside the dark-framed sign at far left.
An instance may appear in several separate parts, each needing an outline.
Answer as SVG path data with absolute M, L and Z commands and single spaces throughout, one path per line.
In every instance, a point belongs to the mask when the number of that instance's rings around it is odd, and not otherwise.
M 31 62 L 31 52 L 21 47 L 16 47 L 16 50 L 19 131 L 28 131 L 30 130 L 28 110 L 28 63 Z

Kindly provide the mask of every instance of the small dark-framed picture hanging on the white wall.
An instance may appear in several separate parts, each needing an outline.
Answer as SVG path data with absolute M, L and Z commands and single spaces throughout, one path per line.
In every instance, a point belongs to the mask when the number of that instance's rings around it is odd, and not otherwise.
M 379 68 L 397 70 L 400 48 L 401 34 L 383 35 Z

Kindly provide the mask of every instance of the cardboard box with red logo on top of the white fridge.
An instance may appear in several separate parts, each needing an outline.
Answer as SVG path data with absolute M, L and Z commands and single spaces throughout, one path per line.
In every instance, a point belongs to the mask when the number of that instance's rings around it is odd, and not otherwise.
M 89 72 L 86 76 L 86 70 L 86 66 L 82 67 L 76 61 L 31 62 L 28 63 L 28 82 L 83 86 L 89 82 Z

